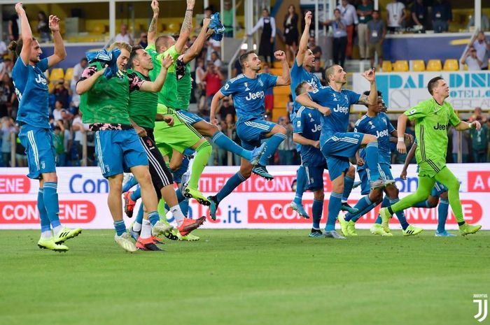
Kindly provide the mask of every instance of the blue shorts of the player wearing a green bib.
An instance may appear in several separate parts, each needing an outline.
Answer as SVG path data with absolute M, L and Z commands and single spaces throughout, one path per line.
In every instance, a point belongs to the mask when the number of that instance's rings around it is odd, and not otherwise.
M 148 166 L 148 156 L 134 129 L 95 132 L 95 152 L 104 178 Z

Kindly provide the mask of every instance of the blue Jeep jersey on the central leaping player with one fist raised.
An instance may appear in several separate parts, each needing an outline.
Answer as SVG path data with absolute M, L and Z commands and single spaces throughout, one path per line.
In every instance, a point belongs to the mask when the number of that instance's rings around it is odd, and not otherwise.
M 226 82 L 221 87 L 221 94 L 233 96 L 237 123 L 246 122 L 255 118 L 263 120 L 265 113 L 265 91 L 274 87 L 277 82 L 276 75 L 258 73 L 257 78 L 250 79 L 242 73 Z

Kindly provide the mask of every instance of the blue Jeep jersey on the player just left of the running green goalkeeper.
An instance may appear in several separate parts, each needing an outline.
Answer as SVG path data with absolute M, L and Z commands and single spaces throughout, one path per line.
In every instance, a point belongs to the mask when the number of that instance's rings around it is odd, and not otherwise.
M 356 128 L 354 129 L 354 132 L 371 134 L 378 138 L 379 164 L 388 165 L 391 164 L 390 136 L 393 131 L 395 131 L 395 128 L 385 113 L 378 113 L 376 117 L 364 115 L 356 122 Z M 364 149 L 360 150 L 359 155 L 365 160 Z M 364 168 L 365 164 L 358 169 Z

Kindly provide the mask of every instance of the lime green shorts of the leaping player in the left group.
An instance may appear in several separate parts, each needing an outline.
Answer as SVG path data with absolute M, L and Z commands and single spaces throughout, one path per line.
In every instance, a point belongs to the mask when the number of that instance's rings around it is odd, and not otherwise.
M 169 127 L 165 122 L 155 122 L 154 129 L 155 143 L 164 157 L 172 156 L 173 150 L 183 153 L 202 139 L 200 133 L 189 124 L 182 122 L 173 110 L 167 111 L 166 115 L 174 118 L 174 126 Z

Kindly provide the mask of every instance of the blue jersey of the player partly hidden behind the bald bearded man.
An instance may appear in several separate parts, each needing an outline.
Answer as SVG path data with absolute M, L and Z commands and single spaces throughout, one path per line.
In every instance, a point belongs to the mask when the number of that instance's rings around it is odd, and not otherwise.
M 309 140 L 320 140 L 321 113 L 318 110 L 301 106 L 296 113 L 294 133 L 301 133 Z M 324 166 L 325 157 L 321 150 L 312 145 L 301 145 L 301 160 L 303 166 Z

